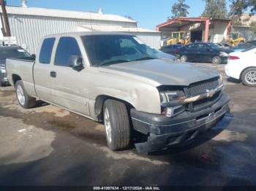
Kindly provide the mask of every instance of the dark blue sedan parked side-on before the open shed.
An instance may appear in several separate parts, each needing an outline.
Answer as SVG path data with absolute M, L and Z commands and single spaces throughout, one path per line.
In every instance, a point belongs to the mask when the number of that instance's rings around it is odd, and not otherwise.
M 195 42 L 176 49 L 176 56 L 182 62 L 227 63 L 228 54 L 233 50 L 219 47 L 214 43 Z

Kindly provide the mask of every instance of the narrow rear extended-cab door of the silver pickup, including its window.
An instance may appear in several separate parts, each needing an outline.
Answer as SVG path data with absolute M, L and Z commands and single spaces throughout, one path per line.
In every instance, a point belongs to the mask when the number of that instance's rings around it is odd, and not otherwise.
M 39 50 L 39 56 L 37 56 L 36 63 L 34 64 L 34 84 L 37 96 L 50 103 L 53 102 L 52 96 L 50 95 L 50 63 L 55 41 L 55 38 L 43 40 L 41 49 Z

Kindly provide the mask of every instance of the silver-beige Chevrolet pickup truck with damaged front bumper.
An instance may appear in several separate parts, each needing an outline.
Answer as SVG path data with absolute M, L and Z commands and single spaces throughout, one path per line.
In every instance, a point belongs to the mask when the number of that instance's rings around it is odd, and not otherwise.
M 132 142 L 138 152 L 180 144 L 229 111 L 217 71 L 159 60 L 129 34 L 47 36 L 35 61 L 7 59 L 7 76 L 23 108 L 37 98 L 104 122 L 113 150 Z

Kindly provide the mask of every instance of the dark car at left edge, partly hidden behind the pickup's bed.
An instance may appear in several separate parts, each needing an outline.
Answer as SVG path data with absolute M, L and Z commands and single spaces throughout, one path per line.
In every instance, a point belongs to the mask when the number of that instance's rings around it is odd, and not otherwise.
M 8 85 L 7 72 L 5 62 L 7 58 L 26 58 L 30 57 L 29 52 L 26 52 L 22 47 L 0 47 L 0 87 Z

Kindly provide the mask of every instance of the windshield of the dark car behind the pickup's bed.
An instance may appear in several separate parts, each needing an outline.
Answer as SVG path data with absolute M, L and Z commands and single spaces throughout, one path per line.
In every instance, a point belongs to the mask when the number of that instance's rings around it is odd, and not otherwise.
M 24 58 L 29 56 L 29 52 L 26 52 L 26 50 L 23 50 L 22 48 L 5 49 L 3 47 L 2 49 L 0 49 L 0 60 L 5 60 L 7 58 Z

